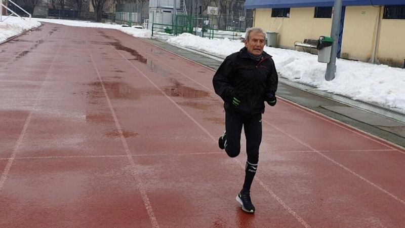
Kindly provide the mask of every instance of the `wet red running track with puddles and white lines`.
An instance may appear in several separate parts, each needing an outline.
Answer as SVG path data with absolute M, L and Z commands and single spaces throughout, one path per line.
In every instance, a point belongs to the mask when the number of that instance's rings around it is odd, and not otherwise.
M 0 53 L 0 227 L 405 224 L 403 148 L 280 99 L 263 115 L 246 214 L 246 155 L 217 147 L 213 70 L 117 30 L 55 24 Z

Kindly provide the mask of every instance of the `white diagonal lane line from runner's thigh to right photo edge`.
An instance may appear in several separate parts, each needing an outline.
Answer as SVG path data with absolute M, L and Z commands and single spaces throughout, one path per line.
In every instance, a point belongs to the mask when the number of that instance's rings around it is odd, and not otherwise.
M 357 173 L 354 172 L 353 170 L 347 168 L 346 166 L 340 164 L 339 162 L 333 160 L 332 158 L 330 158 L 330 157 L 328 157 L 328 156 L 326 156 L 326 155 L 320 153 L 318 150 L 312 148 L 312 146 L 310 146 L 310 145 L 308 145 L 307 143 L 301 141 L 300 139 L 294 137 L 293 135 L 287 133 L 286 131 L 284 131 L 284 130 L 282 130 L 282 129 L 280 129 L 280 128 L 278 128 L 278 127 L 272 125 L 272 124 L 270 124 L 270 123 L 267 122 L 267 121 L 264 121 L 264 122 L 265 122 L 266 124 L 268 124 L 269 126 L 271 126 L 272 128 L 276 129 L 277 131 L 279 131 L 279 132 L 281 132 L 281 133 L 283 133 L 283 134 L 289 136 L 290 138 L 294 139 L 294 140 L 297 141 L 298 143 L 300 143 L 300 144 L 302 144 L 302 145 L 308 147 L 309 149 L 313 150 L 316 154 L 320 155 L 321 157 L 323 157 L 323 158 L 325 158 L 325 159 L 331 161 L 331 162 L 334 163 L 335 165 L 337 165 L 337 166 L 343 168 L 344 170 L 348 171 L 349 173 L 353 174 L 354 176 L 356 176 L 356 177 L 360 178 L 361 180 L 365 181 L 366 183 L 372 185 L 373 187 L 377 188 L 377 189 L 380 190 L 381 192 L 383 192 L 383 193 L 387 194 L 388 196 L 392 197 L 393 199 L 395 199 L 395 200 L 398 201 L 399 203 L 405 205 L 405 201 L 403 201 L 403 200 L 400 199 L 399 197 L 395 196 L 394 194 L 388 192 L 387 190 L 385 190 L 384 188 L 380 187 L 379 185 L 373 183 L 372 181 L 368 180 L 367 178 L 361 176 L 360 174 L 357 174 Z

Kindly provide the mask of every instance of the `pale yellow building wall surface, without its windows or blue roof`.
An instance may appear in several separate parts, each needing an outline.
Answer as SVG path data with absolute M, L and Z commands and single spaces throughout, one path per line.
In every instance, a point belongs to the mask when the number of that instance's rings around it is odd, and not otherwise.
M 379 10 L 380 29 L 377 29 Z M 403 66 L 405 46 L 401 43 L 405 40 L 405 20 L 382 17 L 383 7 L 346 7 L 341 57 L 368 62 L 377 44 L 377 62 Z M 295 41 L 330 36 L 332 18 L 314 18 L 313 7 L 291 8 L 289 18 L 272 18 L 271 9 L 256 9 L 253 25 L 265 31 L 278 32 L 278 47 L 294 49 Z

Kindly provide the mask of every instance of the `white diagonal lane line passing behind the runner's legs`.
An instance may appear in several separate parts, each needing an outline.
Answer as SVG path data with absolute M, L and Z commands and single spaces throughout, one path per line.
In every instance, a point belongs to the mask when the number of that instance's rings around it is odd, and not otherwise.
M 108 41 L 107 41 L 108 42 Z M 109 43 L 109 42 L 108 42 Z M 110 43 L 109 43 L 110 44 Z M 111 44 L 110 44 L 111 45 Z M 111 45 L 112 47 L 112 45 Z M 113 48 L 113 47 L 112 47 Z M 168 98 L 177 108 L 179 108 L 184 115 L 186 115 L 194 124 L 196 124 L 201 130 L 203 130 L 214 142 L 217 142 L 217 139 L 210 134 L 210 132 L 208 132 L 207 129 L 205 129 L 203 126 L 201 126 L 193 117 L 191 117 L 191 115 L 185 111 L 179 104 L 177 104 L 171 97 L 169 97 L 169 95 L 167 95 L 163 90 L 161 90 L 152 80 L 150 80 L 150 78 L 143 73 L 138 67 L 136 67 L 131 61 L 129 61 L 123 54 L 119 53 L 115 48 L 113 48 L 115 50 L 115 52 L 117 52 L 120 56 L 122 56 L 130 65 L 132 65 L 146 80 L 148 80 L 157 90 L 160 91 L 161 94 L 163 94 L 166 98 Z M 199 83 L 198 83 L 199 84 Z M 200 84 L 201 85 L 201 84 Z M 239 162 L 238 160 L 234 160 L 236 161 L 241 167 L 242 169 L 245 169 L 245 166 Z M 291 209 L 286 203 L 284 203 L 284 201 L 282 201 L 273 191 L 271 191 L 271 189 L 269 189 L 264 183 L 263 181 L 256 177 L 255 181 L 258 181 L 259 184 L 266 190 L 266 192 L 268 192 L 273 198 L 275 198 L 275 200 L 281 204 L 282 207 L 284 207 L 290 214 L 292 214 L 304 227 L 309 228 L 311 227 L 303 218 L 301 218 L 293 209 Z

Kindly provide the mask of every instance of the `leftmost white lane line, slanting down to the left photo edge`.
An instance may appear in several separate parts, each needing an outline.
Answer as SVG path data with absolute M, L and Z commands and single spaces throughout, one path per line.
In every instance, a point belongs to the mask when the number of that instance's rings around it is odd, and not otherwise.
M 64 37 L 64 33 L 63 33 L 63 37 Z M 51 69 L 53 69 L 56 56 L 57 56 L 58 53 L 59 53 L 59 50 L 60 50 L 60 47 L 62 46 L 62 43 L 63 43 L 63 40 L 61 40 L 61 41 L 59 42 L 58 49 L 57 49 L 57 51 L 55 52 L 54 58 L 52 59 L 52 62 L 51 62 L 51 65 L 49 66 L 49 69 L 48 69 L 46 78 L 45 78 L 44 82 L 43 82 L 42 85 L 41 85 L 41 90 L 39 90 L 39 92 L 38 92 L 38 95 L 37 95 L 37 97 L 36 97 L 36 99 L 35 99 L 35 103 L 34 103 L 34 105 L 32 106 L 32 109 L 31 109 L 31 111 L 29 112 L 27 119 L 25 120 L 24 126 L 23 126 L 23 128 L 22 128 L 22 130 L 21 130 L 21 133 L 20 133 L 20 136 L 18 137 L 18 140 L 17 140 L 16 144 L 14 145 L 13 152 L 11 153 L 10 159 L 8 159 L 7 164 L 6 164 L 6 167 L 4 168 L 4 171 L 3 171 L 3 173 L 2 173 L 2 176 L 0 177 L 0 194 L 1 194 L 2 191 L 3 191 L 3 187 L 4 187 L 4 184 L 5 184 L 6 180 L 7 180 L 7 177 L 8 177 L 8 174 L 9 174 L 9 172 L 10 172 L 11 166 L 13 165 L 13 162 L 14 162 L 14 160 L 15 160 L 15 158 L 16 158 L 18 149 L 19 149 L 20 146 L 21 146 L 21 142 L 22 142 L 22 140 L 24 139 L 25 133 L 26 133 L 27 128 L 28 128 L 28 125 L 29 125 L 29 123 L 31 122 L 32 113 L 33 113 L 34 110 L 36 109 L 36 106 L 38 105 L 39 101 L 41 101 L 41 100 L 42 100 L 42 97 L 44 96 L 44 90 L 45 90 L 45 87 L 48 85 L 48 79 L 49 79 L 49 77 L 50 77 L 50 71 L 51 71 Z

